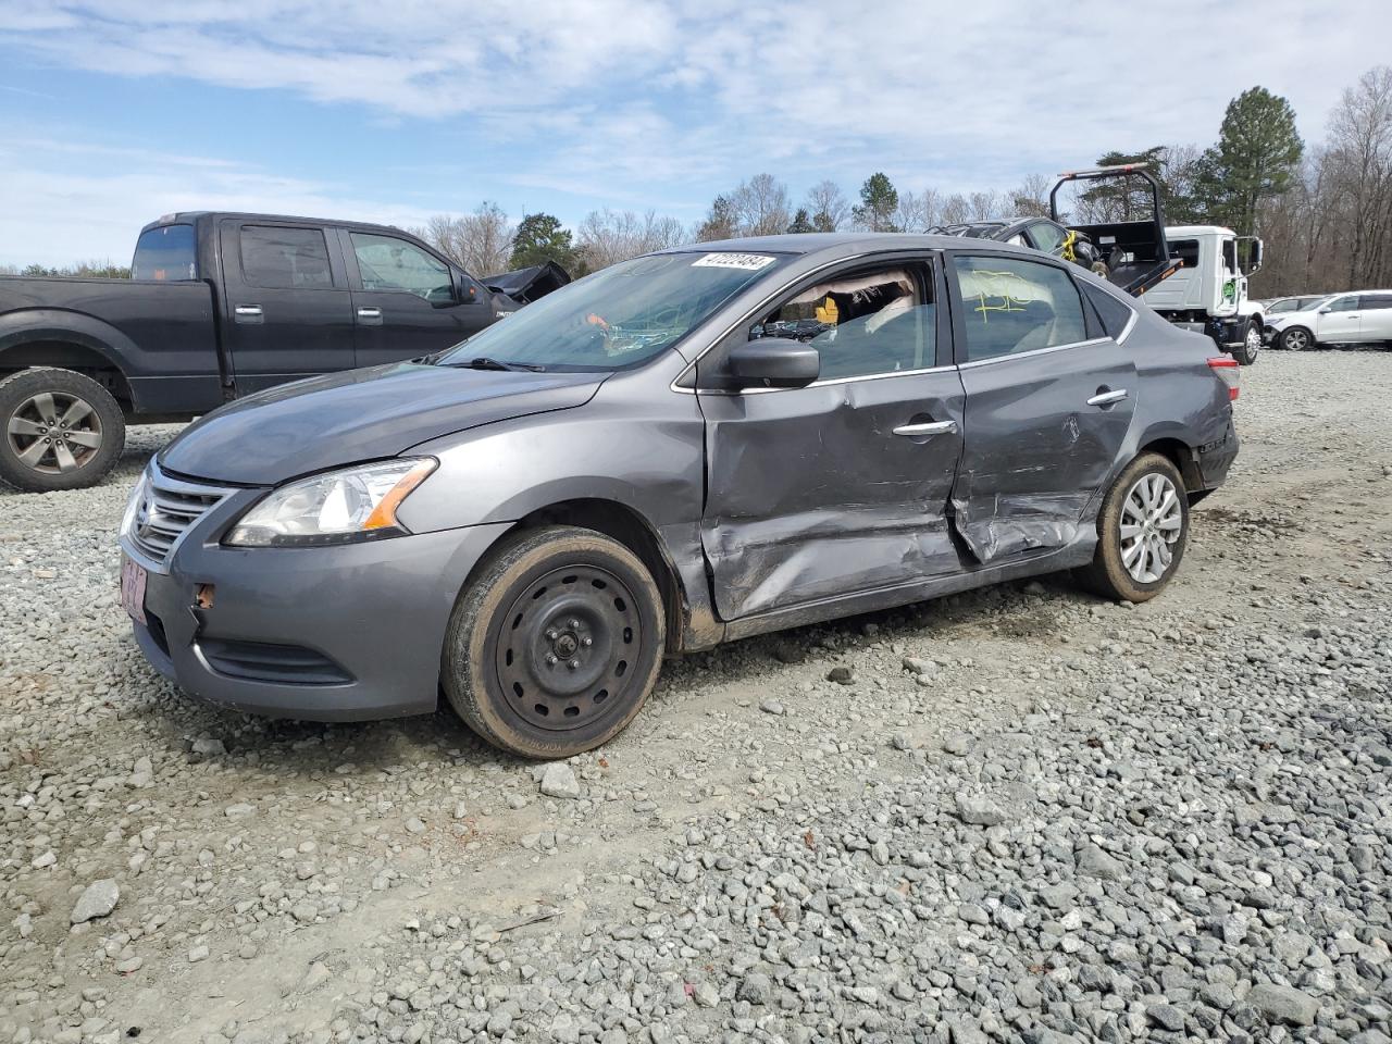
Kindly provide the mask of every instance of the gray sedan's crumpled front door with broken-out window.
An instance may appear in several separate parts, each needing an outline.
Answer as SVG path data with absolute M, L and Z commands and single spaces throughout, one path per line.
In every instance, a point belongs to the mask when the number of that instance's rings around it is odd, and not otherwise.
M 962 451 L 962 384 L 942 365 L 941 278 L 905 258 L 818 276 L 697 365 L 750 337 L 821 355 L 805 388 L 702 390 L 702 543 L 715 607 L 736 619 L 951 572 L 948 494 Z M 941 329 L 940 329 L 941 326 Z

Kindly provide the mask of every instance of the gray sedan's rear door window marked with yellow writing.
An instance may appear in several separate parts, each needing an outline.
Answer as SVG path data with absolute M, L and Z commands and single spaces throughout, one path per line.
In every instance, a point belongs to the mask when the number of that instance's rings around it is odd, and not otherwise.
M 1066 271 L 1013 258 L 956 256 L 952 263 L 967 362 L 1087 340 L 1083 302 Z

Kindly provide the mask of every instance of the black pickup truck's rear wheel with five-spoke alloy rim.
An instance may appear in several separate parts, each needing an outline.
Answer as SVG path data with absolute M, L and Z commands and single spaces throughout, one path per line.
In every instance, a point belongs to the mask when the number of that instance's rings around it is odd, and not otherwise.
M 28 493 L 96 486 L 125 445 L 125 418 L 111 393 L 50 366 L 0 381 L 0 480 Z

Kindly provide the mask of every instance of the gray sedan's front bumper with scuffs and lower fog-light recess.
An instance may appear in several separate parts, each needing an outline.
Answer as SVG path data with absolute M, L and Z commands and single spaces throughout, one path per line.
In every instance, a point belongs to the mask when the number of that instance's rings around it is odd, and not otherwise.
M 255 714 L 433 711 L 455 600 L 508 525 L 337 547 L 221 546 L 258 496 L 238 491 L 193 523 L 167 564 L 122 537 L 148 569 L 145 622 L 132 625 L 150 664 L 185 692 Z

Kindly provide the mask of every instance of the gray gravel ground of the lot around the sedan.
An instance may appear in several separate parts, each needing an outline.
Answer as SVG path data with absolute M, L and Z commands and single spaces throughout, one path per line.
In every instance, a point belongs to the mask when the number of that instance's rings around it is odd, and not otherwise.
M 1178 580 L 668 664 L 568 764 L 269 722 L 0 494 L 0 1041 L 1392 1041 L 1392 352 L 1264 354 Z

